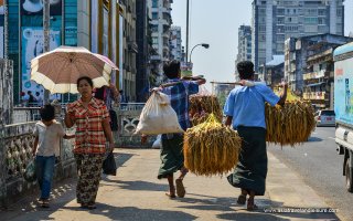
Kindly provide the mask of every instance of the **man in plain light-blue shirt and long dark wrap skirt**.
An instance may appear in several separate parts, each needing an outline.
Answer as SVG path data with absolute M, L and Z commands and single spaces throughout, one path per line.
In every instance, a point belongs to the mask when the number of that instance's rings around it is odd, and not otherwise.
M 240 80 L 254 81 L 252 62 L 239 62 L 237 70 Z M 229 93 L 224 106 L 225 125 L 232 124 L 243 139 L 239 161 L 227 178 L 232 186 L 242 189 L 237 199 L 239 204 L 245 204 L 249 196 L 248 210 L 257 209 L 255 196 L 265 193 L 267 176 L 265 102 L 271 106 L 284 105 L 288 85 L 282 83 L 282 86 L 284 91 L 279 97 L 265 84 L 238 86 Z

